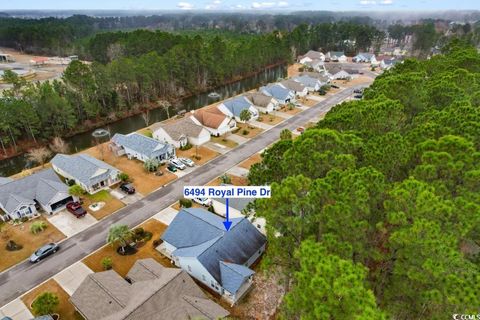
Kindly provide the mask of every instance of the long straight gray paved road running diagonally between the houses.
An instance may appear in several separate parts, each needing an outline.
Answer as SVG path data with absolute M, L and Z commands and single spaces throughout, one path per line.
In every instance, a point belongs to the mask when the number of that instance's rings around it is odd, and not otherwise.
M 61 250 L 58 253 L 39 264 L 32 265 L 28 261 L 24 261 L 1 273 L 0 306 L 7 304 L 103 246 L 107 237 L 107 231 L 112 224 L 127 224 L 133 227 L 142 223 L 175 202 L 182 195 L 184 185 L 206 184 L 239 162 L 274 143 L 278 140 L 280 131 L 283 129 L 294 130 L 307 123 L 318 113 L 329 111 L 332 106 L 350 96 L 354 89 L 355 87 L 348 88 L 334 96 L 328 97 L 308 110 L 285 120 L 249 142 L 219 156 L 162 189 L 151 193 L 142 200 L 124 207 L 88 229 L 66 239 L 62 242 Z

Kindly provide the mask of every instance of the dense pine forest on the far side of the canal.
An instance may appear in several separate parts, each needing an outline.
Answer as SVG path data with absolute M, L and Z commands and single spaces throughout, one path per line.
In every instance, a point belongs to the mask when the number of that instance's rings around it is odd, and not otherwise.
M 72 62 L 61 81 L 25 83 L 6 73 L 13 88 L 0 99 L 0 148 L 7 154 L 18 149 L 18 140 L 48 140 L 114 121 L 159 99 L 174 101 L 288 63 L 309 49 L 365 50 L 383 37 L 371 26 L 343 22 L 259 35 L 99 33 L 84 47 L 93 63 Z M 355 47 L 347 48 L 344 39 Z

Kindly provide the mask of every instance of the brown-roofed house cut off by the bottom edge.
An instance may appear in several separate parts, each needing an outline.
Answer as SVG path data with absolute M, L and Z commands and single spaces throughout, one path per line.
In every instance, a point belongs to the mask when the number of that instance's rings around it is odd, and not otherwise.
M 229 315 L 185 271 L 152 258 L 137 260 L 125 279 L 113 270 L 87 275 L 70 301 L 85 320 L 216 320 Z

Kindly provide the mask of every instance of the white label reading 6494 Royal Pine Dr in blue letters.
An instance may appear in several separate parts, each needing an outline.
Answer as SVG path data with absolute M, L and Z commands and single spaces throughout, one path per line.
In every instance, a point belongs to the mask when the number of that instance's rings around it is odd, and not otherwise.
M 194 198 L 270 198 L 270 186 L 184 186 L 183 197 Z

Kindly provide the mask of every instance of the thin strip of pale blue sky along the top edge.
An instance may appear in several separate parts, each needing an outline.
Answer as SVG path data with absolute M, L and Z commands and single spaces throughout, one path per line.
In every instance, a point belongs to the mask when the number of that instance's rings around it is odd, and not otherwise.
M 480 9 L 480 0 L 14 0 L 0 1 L 0 10 L 121 9 L 239 11 L 387 11 Z

